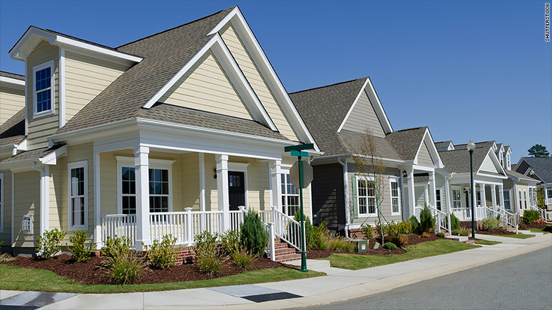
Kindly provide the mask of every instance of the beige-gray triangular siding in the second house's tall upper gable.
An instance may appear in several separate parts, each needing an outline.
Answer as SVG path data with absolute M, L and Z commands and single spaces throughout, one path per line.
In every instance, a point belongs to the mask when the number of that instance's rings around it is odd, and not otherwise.
M 352 109 L 351 114 L 345 121 L 343 129 L 364 133 L 366 130 L 372 131 L 372 134 L 379 138 L 385 138 L 385 132 L 374 111 L 372 102 L 363 90 L 357 104 Z

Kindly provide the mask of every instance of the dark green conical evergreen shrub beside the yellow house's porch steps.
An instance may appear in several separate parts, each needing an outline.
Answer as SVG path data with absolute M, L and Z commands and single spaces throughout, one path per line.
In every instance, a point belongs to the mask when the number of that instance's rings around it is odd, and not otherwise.
M 250 210 L 241 225 L 240 244 L 254 256 L 262 256 L 268 244 L 268 232 L 265 231 L 259 215 Z

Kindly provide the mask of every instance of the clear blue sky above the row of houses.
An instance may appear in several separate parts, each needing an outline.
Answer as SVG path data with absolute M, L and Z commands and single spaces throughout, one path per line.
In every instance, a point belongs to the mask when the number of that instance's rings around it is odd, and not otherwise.
M 117 47 L 238 5 L 288 92 L 370 76 L 393 129 L 552 152 L 545 1 L 0 1 L 0 70 L 29 25 Z M 25 11 L 24 14 L 21 12 Z

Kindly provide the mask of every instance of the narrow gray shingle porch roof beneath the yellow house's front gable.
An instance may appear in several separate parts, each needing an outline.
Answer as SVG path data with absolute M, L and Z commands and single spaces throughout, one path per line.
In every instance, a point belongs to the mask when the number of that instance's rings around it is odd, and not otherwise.
M 176 107 L 174 105 L 158 104 L 150 109 L 140 109 L 137 117 L 168 121 L 175 124 L 197 126 L 207 129 L 217 129 L 234 133 L 243 133 L 251 136 L 262 136 L 279 140 L 289 140 L 282 133 L 272 131 L 256 121 L 228 117 L 210 112 Z

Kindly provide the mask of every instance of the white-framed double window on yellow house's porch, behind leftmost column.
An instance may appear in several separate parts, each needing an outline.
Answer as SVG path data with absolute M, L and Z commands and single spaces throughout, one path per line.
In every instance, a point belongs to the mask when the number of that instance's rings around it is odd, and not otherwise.
M 117 158 L 117 213 L 136 214 L 136 171 L 134 157 Z M 173 210 L 173 165 L 174 160 L 149 158 L 148 194 L 149 212 Z

